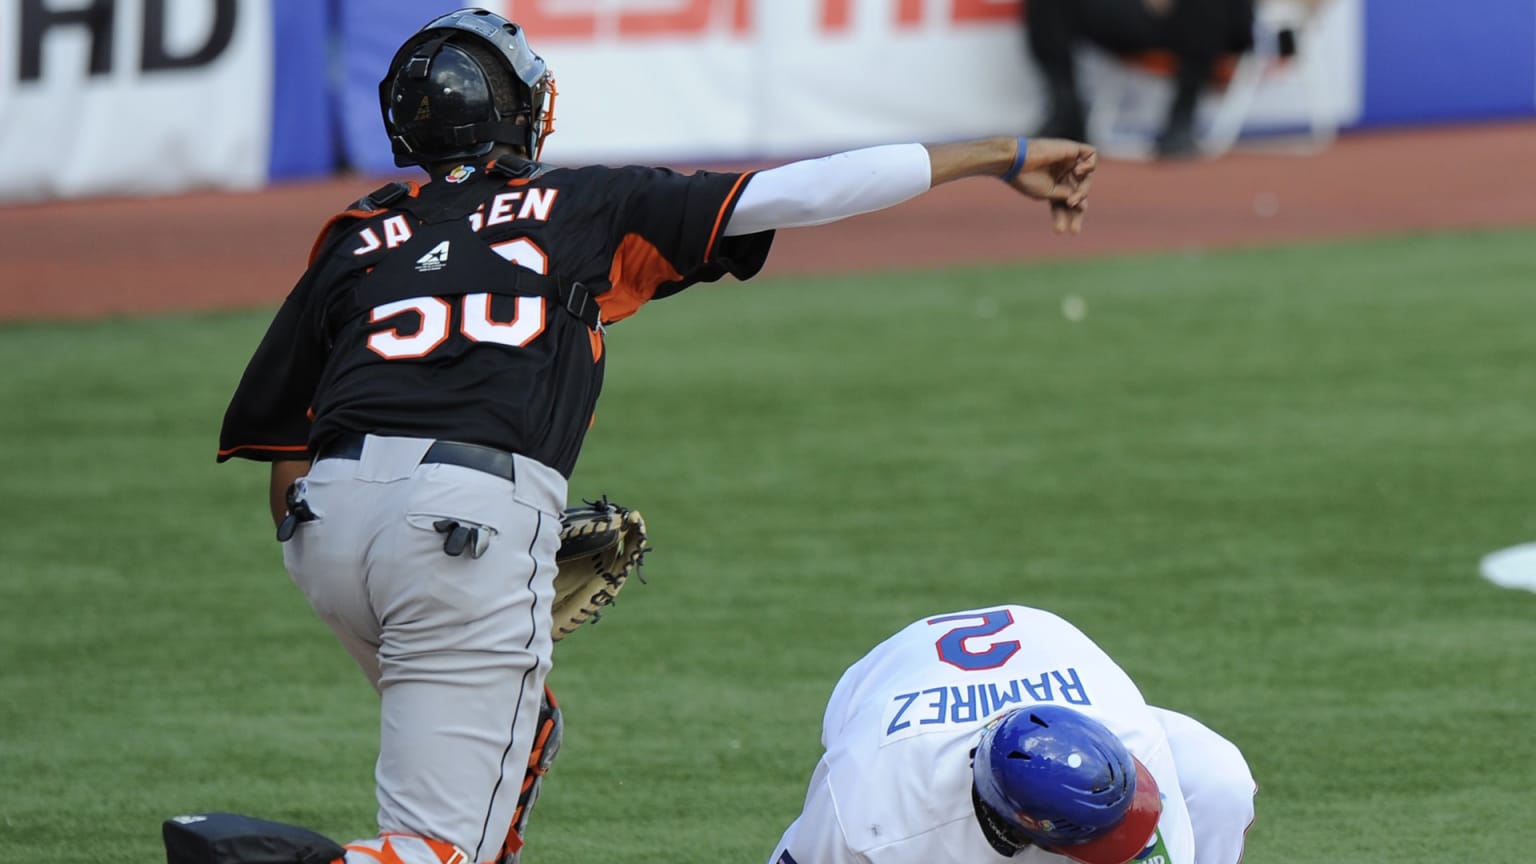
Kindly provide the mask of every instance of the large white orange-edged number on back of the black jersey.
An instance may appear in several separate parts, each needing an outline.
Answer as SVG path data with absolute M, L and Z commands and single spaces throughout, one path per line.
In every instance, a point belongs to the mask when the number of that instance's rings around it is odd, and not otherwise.
M 502 258 L 536 274 L 550 271 L 548 255 L 525 237 L 498 243 L 492 249 Z M 542 297 L 519 297 L 510 321 L 492 320 L 490 294 L 465 294 L 462 306 L 459 331 L 472 341 L 522 347 L 544 332 Z M 376 324 L 395 315 L 415 312 L 421 317 L 421 326 L 412 334 L 402 334 L 398 327 L 372 334 L 369 335 L 369 349 L 386 360 L 425 357 L 449 338 L 452 311 L 449 301 L 441 297 L 412 297 L 375 306 L 369 314 L 369 323 Z

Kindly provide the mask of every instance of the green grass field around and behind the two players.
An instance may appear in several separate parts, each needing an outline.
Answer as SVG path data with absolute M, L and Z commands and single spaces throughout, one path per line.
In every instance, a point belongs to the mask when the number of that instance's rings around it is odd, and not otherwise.
M 610 335 L 573 497 L 648 586 L 561 644 L 528 864 L 760 864 L 865 649 L 1017 601 L 1258 776 L 1249 864 L 1524 861 L 1536 234 L 700 286 Z M 1069 321 L 1064 295 L 1086 301 Z M 270 311 L 0 329 L 0 862 L 237 810 L 372 833 L 372 690 L 214 464 Z

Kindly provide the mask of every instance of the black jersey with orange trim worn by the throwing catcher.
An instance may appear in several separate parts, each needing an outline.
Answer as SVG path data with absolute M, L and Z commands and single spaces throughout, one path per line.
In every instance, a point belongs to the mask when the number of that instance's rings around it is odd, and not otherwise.
M 568 300 L 590 294 L 611 324 L 751 278 L 773 232 L 720 235 L 748 178 L 465 164 L 347 211 L 246 367 L 218 460 L 306 458 L 350 432 L 484 444 L 570 477 L 605 357 L 598 317 Z

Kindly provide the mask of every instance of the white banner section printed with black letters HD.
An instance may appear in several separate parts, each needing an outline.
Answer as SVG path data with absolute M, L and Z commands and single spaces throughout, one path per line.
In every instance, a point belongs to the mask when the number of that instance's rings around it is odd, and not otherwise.
M 0 43 L 0 200 L 266 181 L 270 0 L 12 0 Z

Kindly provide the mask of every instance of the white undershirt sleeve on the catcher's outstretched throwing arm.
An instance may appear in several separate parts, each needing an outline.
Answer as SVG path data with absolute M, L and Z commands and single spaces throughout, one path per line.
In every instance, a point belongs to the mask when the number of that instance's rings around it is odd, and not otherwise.
M 725 235 L 826 224 L 915 198 L 932 183 L 923 145 L 883 145 L 753 174 Z

